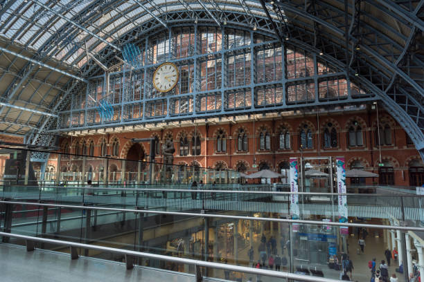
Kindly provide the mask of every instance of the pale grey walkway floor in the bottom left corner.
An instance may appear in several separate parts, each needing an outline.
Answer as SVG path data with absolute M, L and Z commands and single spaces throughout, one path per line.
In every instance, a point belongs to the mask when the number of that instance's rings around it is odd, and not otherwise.
M 193 274 L 154 270 L 150 267 L 134 267 L 133 270 L 126 270 L 125 263 L 83 256 L 71 260 L 69 254 L 44 250 L 26 252 L 26 247 L 5 243 L 0 244 L 0 258 L 2 282 L 195 281 Z

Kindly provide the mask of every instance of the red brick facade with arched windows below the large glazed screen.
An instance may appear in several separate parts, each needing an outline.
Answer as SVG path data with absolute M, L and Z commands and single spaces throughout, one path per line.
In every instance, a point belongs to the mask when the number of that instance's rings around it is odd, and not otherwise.
M 370 105 L 369 105 L 370 108 Z M 407 134 L 401 126 L 389 116 L 387 113 L 380 111 L 379 115 L 380 138 L 386 138 L 387 141 L 381 146 L 381 159 L 385 163 L 385 167 L 393 167 L 394 185 L 410 185 L 409 166 L 416 167 L 417 164 L 422 166 L 421 158 L 418 155 L 413 144 L 408 144 Z M 355 123 L 355 124 L 353 124 Z M 360 135 L 362 135 L 362 146 L 351 146 L 349 143 L 349 129 L 353 126 L 360 126 Z M 335 129 L 337 136 L 337 144 L 333 143 L 328 148 L 325 147 L 326 140 L 324 131 L 330 127 Z M 356 128 L 356 127 L 355 127 Z M 282 162 L 288 161 L 290 157 L 303 156 L 344 156 L 348 168 L 354 163 L 360 162 L 364 169 L 379 172 L 378 163 L 380 162 L 380 151 L 376 146 L 377 138 L 377 118 L 374 110 L 360 110 L 337 113 L 321 113 L 319 115 L 292 115 L 288 117 L 263 118 L 256 115 L 256 121 L 246 122 L 219 122 L 218 124 L 200 124 L 195 126 L 181 126 L 162 129 L 160 131 L 136 131 L 125 133 L 107 133 L 103 135 L 86 135 L 84 137 L 73 137 L 62 140 L 62 147 L 67 144 L 71 145 L 71 153 L 76 153 L 76 144 L 82 146 L 84 140 L 88 144 L 91 140 L 94 142 L 94 156 L 101 155 L 101 144 L 103 140 L 109 144 L 107 146 L 108 155 L 113 156 L 113 142 L 118 141 L 116 158 L 128 158 L 128 151 L 132 146 L 130 138 L 152 138 L 157 137 L 161 144 L 166 138 L 173 138 L 175 146 L 174 164 L 199 164 L 201 167 L 215 168 L 219 165 L 221 168 L 237 169 L 239 164 L 245 164 L 247 171 L 257 171 L 258 168 L 252 168 L 254 159 L 256 164 L 266 163 L 270 169 L 278 171 Z M 248 150 L 238 150 L 238 134 L 242 129 L 248 135 Z M 301 144 L 300 131 L 310 129 L 312 133 L 312 149 L 299 149 Z M 383 130 L 385 129 L 385 131 Z M 280 133 L 290 133 L 290 149 L 280 149 L 279 136 Z M 195 132 L 200 135 L 201 150 L 199 156 L 191 156 L 192 138 Z M 260 149 L 260 133 L 269 134 L 270 149 Z M 226 138 L 226 151 L 217 151 L 218 134 L 224 135 Z M 180 140 L 187 138 L 188 140 L 188 156 L 180 156 Z M 72 142 L 72 143 L 71 143 Z M 265 142 L 265 141 L 264 141 Z M 332 141 L 333 142 L 333 141 Z M 390 143 L 390 144 L 387 144 Z M 141 144 L 141 158 L 145 159 L 150 153 L 148 142 Z M 80 149 L 81 150 L 81 149 Z M 87 149 L 88 151 L 89 149 Z M 82 152 L 82 151 L 80 151 Z M 134 156 L 130 157 L 130 159 Z M 161 156 L 157 156 L 157 162 L 161 162 Z M 74 160 L 73 169 L 67 171 L 80 171 L 81 160 Z M 64 165 L 69 165 L 69 160 L 62 162 L 62 171 L 65 170 Z M 98 171 L 98 167 L 102 164 L 101 160 L 88 159 L 94 171 Z M 116 167 L 113 167 L 113 166 Z M 121 171 L 121 162 L 116 160 L 109 161 L 109 171 Z M 378 182 L 378 179 L 367 178 L 366 184 Z M 418 183 L 420 184 L 420 183 Z

